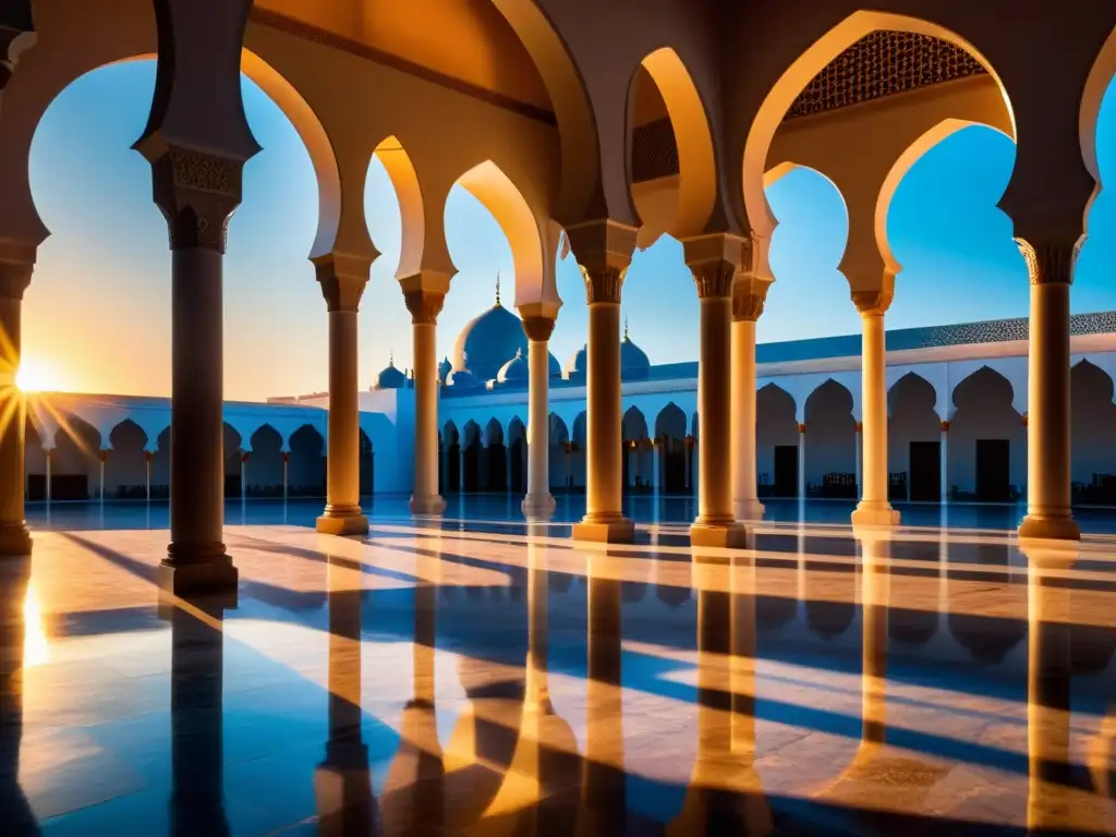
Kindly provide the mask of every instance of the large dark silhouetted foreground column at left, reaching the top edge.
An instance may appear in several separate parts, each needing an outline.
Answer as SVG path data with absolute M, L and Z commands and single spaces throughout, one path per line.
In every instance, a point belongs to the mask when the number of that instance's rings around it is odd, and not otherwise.
M 171 239 L 171 545 L 160 584 L 189 595 L 237 585 L 221 540 L 222 269 L 244 162 L 260 146 L 240 86 L 250 0 L 163 0 L 163 7 L 153 105 L 133 147 L 151 163 Z

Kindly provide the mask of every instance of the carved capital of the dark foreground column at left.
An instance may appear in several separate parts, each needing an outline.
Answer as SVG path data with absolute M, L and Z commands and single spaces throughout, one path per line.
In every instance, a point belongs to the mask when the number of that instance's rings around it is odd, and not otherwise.
M 176 146 L 152 162 L 155 203 L 166 218 L 172 250 L 224 252 L 243 167 L 240 160 Z

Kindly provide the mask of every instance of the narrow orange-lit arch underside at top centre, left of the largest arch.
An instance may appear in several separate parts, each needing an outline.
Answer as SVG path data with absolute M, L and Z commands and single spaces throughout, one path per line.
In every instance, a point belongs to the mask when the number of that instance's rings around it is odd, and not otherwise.
M 662 233 L 681 239 L 704 231 L 716 201 L 716 162 L 709 116 L 701 95 L 679 54 L 670 47 L 661 47 L 647 55 L 628 83 L 629 133 L 636 86 L 644 75 L 641 70 L 646 73 L 662 96 L 679 155 L 676 196 L 670 218 L 663 217 L 657 208 L 652 212 L 650 202 L 637 200 L 634 190 L 632 193 L 642 223 L 650 228 L 650 232 L 641 230 L 639 244 L 650 247 Z M 631 142 L 627 144 L 627 158 L 631 173 Z

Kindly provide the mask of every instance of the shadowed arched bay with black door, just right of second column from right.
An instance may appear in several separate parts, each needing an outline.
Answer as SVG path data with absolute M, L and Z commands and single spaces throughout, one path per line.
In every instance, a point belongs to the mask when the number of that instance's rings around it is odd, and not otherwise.
M 942 499 L 942 422 L 934 410 L 937 394 L 921 375 L 911 372 L 887 394 L 888 471 L 903 475 L 907 497 L 902 500 L 939 502 Z

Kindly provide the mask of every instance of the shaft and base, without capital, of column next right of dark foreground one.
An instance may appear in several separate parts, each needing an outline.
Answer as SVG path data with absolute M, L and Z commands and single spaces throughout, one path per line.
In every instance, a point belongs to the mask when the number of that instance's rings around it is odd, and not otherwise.
M 326 442 L 326 509 L 319 532 L 364 535 L 360 513 L 360 398 L 356 308 L 329 311 L 329 433 Z

